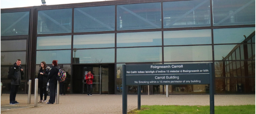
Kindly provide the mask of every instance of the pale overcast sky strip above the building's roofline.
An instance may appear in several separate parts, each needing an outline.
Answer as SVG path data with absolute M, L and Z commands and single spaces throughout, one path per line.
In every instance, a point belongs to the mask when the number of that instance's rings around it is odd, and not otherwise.
M 45 0 L 46 5 L 81 3 L 81 2 L 97 2 L 97 1 L 109 1 L 109 0 Z M 1 9 L 40 6 L 40 5 L 42 5 L 41 0 L 1 0 Z

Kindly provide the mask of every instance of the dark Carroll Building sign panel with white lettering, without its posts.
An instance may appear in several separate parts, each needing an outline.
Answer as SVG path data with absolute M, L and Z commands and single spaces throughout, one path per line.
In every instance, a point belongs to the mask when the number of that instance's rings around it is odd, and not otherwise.
M 126 65 L 126 85 L 210 84 L 209 63 Z

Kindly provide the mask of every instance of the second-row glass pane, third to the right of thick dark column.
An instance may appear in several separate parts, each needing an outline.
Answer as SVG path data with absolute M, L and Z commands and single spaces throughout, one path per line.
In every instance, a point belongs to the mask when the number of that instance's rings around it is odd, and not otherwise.
M 162 32 L 117 33 L 117 47 L 162 46 Z

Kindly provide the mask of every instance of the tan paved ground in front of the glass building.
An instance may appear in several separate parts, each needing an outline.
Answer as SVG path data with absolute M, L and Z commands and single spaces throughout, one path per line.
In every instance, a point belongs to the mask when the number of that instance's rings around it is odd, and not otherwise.
M 17 94 L 16 100 L 20 104 L 9 105 L 9 94 L 3 94 L 1 114 L 122 114 L 122 95 L 67 94 L 60 96 L 60 104 L 38 103 L 37 107 L 34 107 L 34 95 L 31 95 L 31 104 L 28 104 L 28 94 Z M 137 95 L 128 95 L 128 111 L 138 107 L 137 101 Z M 209 95 L 141 95 L 141 105 L 206 106 L 210 105 L 210 98 Z M 255 95 L 214 95 L 214 105 L 255 105 Z

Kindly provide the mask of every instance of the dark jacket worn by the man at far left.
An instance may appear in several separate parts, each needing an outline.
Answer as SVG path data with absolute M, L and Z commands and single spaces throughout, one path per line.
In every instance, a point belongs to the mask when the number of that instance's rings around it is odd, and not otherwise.
M 17 66 L 16 63 L 13 64 L 13 67 L 10 69 L 10 75 L 11 75 L 11 85 L 20 85 L 21 79 L 23 79 L 24 72 L 21 71 L 22 67 L 21 65 Z

